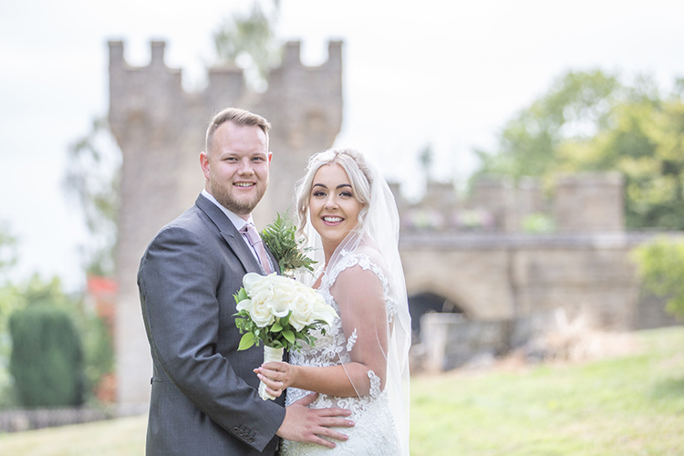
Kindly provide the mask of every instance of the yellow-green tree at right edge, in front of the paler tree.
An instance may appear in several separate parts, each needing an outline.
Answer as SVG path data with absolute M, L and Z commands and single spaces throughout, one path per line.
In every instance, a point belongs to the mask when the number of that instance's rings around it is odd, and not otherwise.
M 625 176 L 625 215 L 632 228 L 684 229 L 684 104 L 643 98 L 619 106 L 615 125 L 575 157 L 576 170 Z M 565 161 L 572 163 L 568 148 Z

